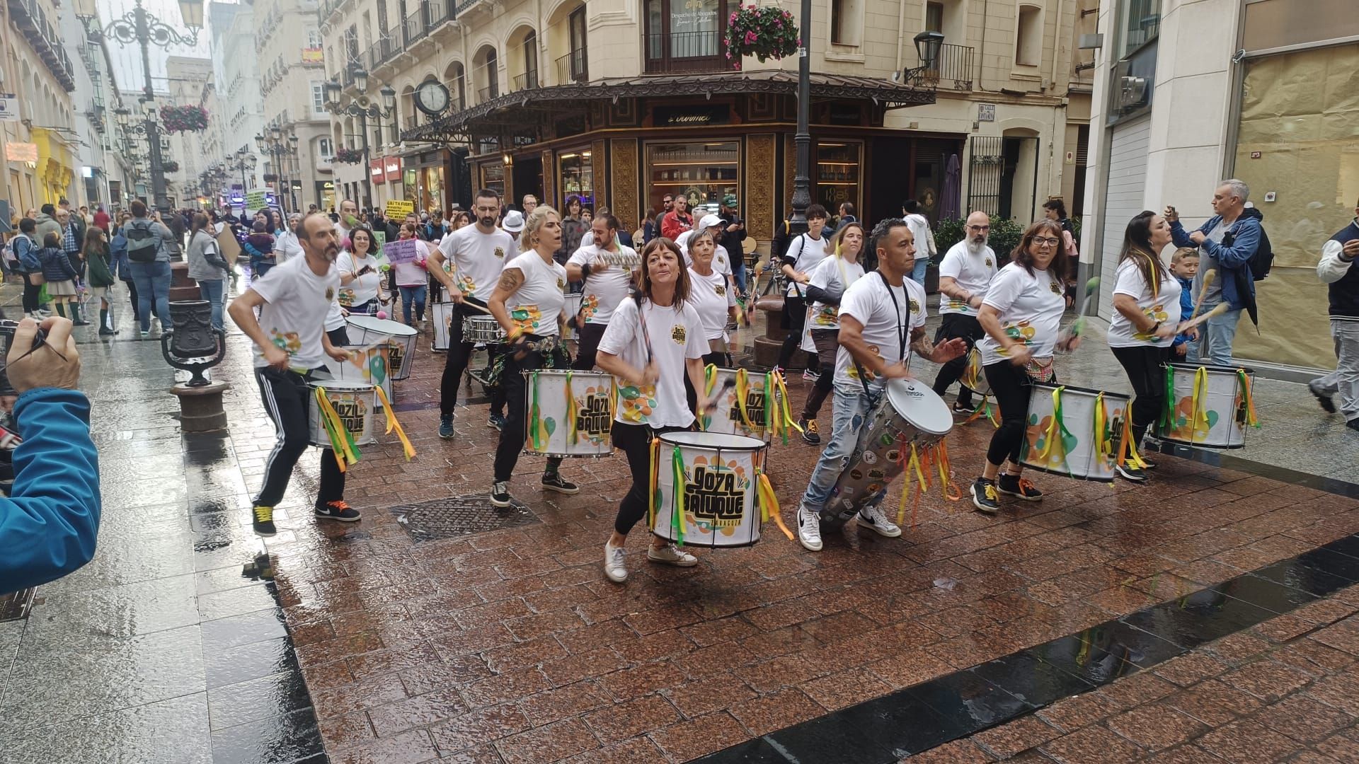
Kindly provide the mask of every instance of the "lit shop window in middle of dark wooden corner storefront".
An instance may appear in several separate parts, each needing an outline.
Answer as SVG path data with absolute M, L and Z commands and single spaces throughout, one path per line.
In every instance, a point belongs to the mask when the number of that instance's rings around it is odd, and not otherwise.
M 660 209 L 666 194 L 685 196 L 689 208 L 711 212 L 726 194 L 741 190 L 741 144 L 654 143 L 647 145 L 647 207 Z

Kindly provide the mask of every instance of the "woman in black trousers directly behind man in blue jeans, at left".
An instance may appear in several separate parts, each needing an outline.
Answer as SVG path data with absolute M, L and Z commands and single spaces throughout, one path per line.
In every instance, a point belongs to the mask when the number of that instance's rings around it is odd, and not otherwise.
M 863 249 L 863 226 L 848 223 L 836 231 L 826 245 L 832 257 L 822 260 L 807 275 L 807 299 L 811 302 L 811 341 L 817 345 L 821 377 L 817 377 L 807 402 L 802 406 L 802 439 L 813 446 L 821 443 L 817 415 L 821 404 L 834 386 L 836 355 L 840 349 L 840 298 L 849 284 L 863 276 L 859 251 Z

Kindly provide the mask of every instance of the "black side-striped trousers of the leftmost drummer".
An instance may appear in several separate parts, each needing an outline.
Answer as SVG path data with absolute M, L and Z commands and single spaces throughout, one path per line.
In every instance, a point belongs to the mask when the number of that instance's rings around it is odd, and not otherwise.
M 298 458 L 307 450 L 311 440 L 311 423 L 308 420 L 311 389 L 307 382 L 314 379 L 313 374 L 325 371 L 311 370 L 306 375 L 295 371 L 279 371 L 273 367 L 255 368 L 255 379 L 260 382 L 260 394 L 264 398 L 264 409 L 269 412 L 275 428 L 279 431 L 279 442 L 269 451 L 265 462 L 264 485 L 254 499 L 257 507 L 273 507 L 283 500 L 284 491 L 288 489 L 288 479 L 292 477 L 292 468 Z M 344 499 L 344 473 L 336 464 L 336 454 L 330 449 L 321 450 L 321 488 L 317 491 L 317 506 L 328 502 Z

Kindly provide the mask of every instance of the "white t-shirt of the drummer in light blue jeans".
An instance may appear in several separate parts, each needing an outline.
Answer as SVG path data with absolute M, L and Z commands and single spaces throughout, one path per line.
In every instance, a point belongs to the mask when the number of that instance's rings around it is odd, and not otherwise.
M 889 287 L 878 272 L 867 273 L 840 298 L 840 315 L 862 324 L 868 349 L 892 366 L 911 358 L 911 332 L 925 325 L 925 288 L 911 279 Z M 882 386 L 871 368 L 864 367 L 863 372 L 870 385 Z M 836 353 L 836 385 L 860 387 L 859 370 L 844 345 Z

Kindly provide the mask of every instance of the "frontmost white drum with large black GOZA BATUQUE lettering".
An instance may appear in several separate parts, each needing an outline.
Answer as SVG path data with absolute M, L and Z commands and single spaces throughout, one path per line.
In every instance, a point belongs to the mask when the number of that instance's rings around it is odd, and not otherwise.
M 719 432 L 666 432 L 656 449 L 651 533 L 685 546 L 760 541 L 757 493 L 768 450 L 764 442 Z M 681 502 L 682 518 L 677 517 Z

